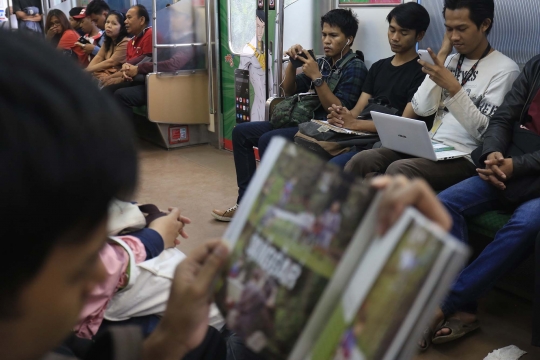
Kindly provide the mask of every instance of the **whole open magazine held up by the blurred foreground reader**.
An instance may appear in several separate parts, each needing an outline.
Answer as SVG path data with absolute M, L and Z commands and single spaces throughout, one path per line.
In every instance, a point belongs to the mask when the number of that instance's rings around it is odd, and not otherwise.
M 224 235 L 231 262 L 216 302 L 227 326 L 264 358 L 347 359 L 343 344 L 357 359 L 410 355 L 468 250 L 413 209 L 378 238 L 378 199 L 274 138 Z M 349 340 L 359 329 L 375 350 Z

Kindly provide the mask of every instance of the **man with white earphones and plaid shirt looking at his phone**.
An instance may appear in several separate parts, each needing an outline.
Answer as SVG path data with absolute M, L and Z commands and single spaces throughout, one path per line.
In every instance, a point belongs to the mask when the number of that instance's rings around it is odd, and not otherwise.
M 321 18 L 322 44 L 324 58 L 313 59 L 301 45 L 293 45 L 286 51 L 293 59 L 300 60 L 303 73 L 296 75 L 296 68 L 289 63 L 285 70 L 285 79 L 281 85 L 285 95 L 292 96 L 312 91 L 319 100 L 312 116 L 294 119 L 298 123 L 310 121 L 312 118 L 324 120 L 332 104 L 352 108 L 358 101 L 367 69 L 364 63 L 351 51 L 351 46 L 358 31 L 358 20 L 350 10 L 335 9 Z M 307 58 L 298 56 L 305 54 Z M 336 71 L 342 66 L 340 71 Z M 333 86 L 333 91 L 330 89 Z M 276 116 L 276 112 L 272 114 Z M 227 210 L 213 210 L 216 220 L 231 221 L 238 204 L 244 196 L 251 178 L 255 173 L 255 155 L 253 147 L 259 148 L 264 156 L 266 146 L 273 136 L 283 136 L 293 140 L 298 127 L 275 129 L 268 121 L 238 124 L 232 134 L 234 165 L 238 183 L 238 200 L 236 205 Z

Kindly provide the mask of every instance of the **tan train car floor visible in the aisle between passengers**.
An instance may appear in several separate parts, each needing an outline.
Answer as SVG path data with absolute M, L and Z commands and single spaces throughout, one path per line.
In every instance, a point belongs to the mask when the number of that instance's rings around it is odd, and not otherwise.
M 162 209 L 179 207 L 192 220 L 190 238 L 179 249 L 189 253 L 198 244 L 219 238 L 228 223 L 214 220 L 214 208 L 234 205 L 237 196 L 232 153 L 210 145 L 163 151 L 140 142 L 140 182 L 135 200 Z M 531 290 L 532 291 L 532 290 Z M 415 360 L 481 360 L 495 349 L 516 345 L 528 354 L 523 360 L 540 359 L 540 348 L 530 345 L 530 302 L 499 290 L 480 303 L 481 328 L 454 342 L 432 346 Z

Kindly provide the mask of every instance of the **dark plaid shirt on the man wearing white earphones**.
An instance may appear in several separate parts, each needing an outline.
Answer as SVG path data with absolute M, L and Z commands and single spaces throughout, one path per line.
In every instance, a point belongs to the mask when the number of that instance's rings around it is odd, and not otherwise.
M 341 61 L 341 60 L 339 60 Z M 319 69 L 322 68 L 321 73 L 323 80 L 330 75 L 332 71 L 337 69 L 336 65 L 339 65 L 339 61 L 333 67 L 330 67 L 332 59 L 325 57 L 317 59 Z M 360 59 L 353 59 L 349 61 L 343 69 L 341 69 L 341 77 L 339 83 L 334 89 L 334 95 L 341 101 L 341 105 L 347 109 L 352 109 L 356 106 L 356 102 L 362 93 L 362 86 L 364 80 L 367 77 L 368 70 L 366 65 Z M 312 80 L 304 74 L 296 75 L 296 93 L 308 92 L 315 86 L 312 84 Z M 315 118 L 319 120 L 326 120 L 326 109 L 320 107 L 315 111 Z

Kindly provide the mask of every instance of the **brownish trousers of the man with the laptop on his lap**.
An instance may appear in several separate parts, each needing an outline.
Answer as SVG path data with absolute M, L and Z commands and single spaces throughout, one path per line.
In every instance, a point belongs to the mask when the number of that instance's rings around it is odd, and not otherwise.
M 435 190 L 444 190 L 476 175 L 476 167 L 465 158 L 431 161 L 387 148 L 361 151 L 347 163 L 345 171 L 361 177 L 401 174 L 409 179 L 423 178 Z

